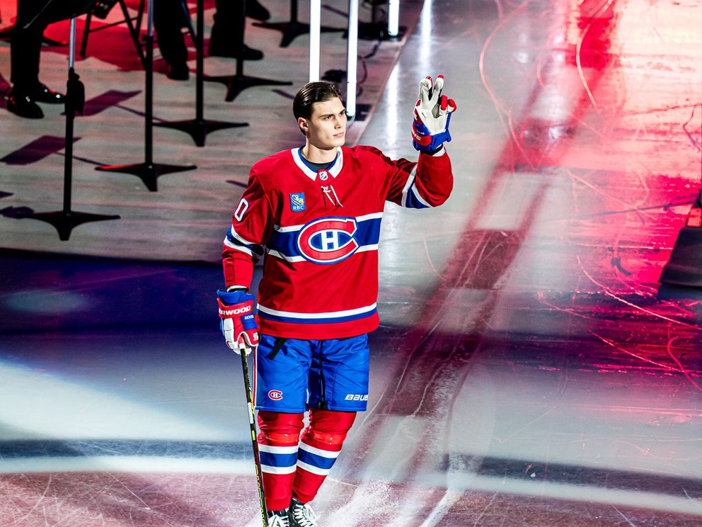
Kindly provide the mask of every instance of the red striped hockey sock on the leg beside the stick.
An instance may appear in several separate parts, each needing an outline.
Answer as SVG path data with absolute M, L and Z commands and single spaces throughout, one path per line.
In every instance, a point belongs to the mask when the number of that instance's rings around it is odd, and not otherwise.
M 287 509 L 290 504 L 303 415 L 258 412 L 258 450 L 265 506 L 270 511 Z

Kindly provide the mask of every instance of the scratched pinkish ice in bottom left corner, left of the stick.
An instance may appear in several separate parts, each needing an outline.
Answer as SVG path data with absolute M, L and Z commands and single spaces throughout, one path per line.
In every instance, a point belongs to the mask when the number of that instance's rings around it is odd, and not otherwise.
M 248 475 L 14 474 L 0 491 L 6 527 L 232 527 L 258 506 Z

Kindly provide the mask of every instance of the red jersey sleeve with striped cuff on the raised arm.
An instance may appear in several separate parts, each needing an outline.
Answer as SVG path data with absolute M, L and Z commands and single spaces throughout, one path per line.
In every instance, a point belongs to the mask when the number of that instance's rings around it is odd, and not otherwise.
M 451 195 L 454 176 L 446 149 L 435 155 L 420 152 L 418 162 L 390 162 L 388 201 L 406 208 L 433 208 Z

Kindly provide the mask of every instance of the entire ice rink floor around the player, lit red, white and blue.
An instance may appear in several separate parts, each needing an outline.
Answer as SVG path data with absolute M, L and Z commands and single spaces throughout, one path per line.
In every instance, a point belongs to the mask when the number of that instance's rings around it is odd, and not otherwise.
M 345 2 L 324 6 L 344 21 Z M 3 23 L 11 9 L 0 3 Z M 436 210 L 386 208 L 369 411 L 313 502 L 320 527 L 702 525 L 702 290 L 659 283 L 701 185 L 699 0 L 408 0 L 401 13 L 401 41 L 362 42 L 370 110 L 350 137 L 415 156 L 418 81 L 444 74 L 454 193 Z M 256 74 L 306 57 L 305 37 L 248 35 L 266 53 Z M 343 35 L 323 37 L 343 56 Z M 139 93 L 142 73 L 110 72 L 100 42 L 78 66 L 88 95 Z M 59 88 L 65 52 L 43 54 Z M 156 79 L 168 108 L 190 111 Z M 158 132 L 157 155 L 198 169 L 156 193 L 84 169 L 139 154 L 139 103 L 113 94 L 84 118 L 76 208 L 122 218 L 68 242 L 13 213 L 60 208 L 47 174 L 60 181 L 61 149 L 40 138 L 62 116 L 1 117 L 3 527 L 260 525 L 217 254 L 248 165 L 299 141 L 296 90 L 224 103 L 207 89 L 208 112 L 237 108 L 251 126 L 204 148 Z

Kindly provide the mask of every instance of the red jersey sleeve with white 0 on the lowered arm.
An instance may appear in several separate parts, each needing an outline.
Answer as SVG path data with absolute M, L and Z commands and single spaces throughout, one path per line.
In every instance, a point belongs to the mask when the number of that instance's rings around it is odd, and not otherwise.
M 269 198 L 252 169 L 248 186 L 231 217 L 231 227 L 222 244 L 224 285 L 249 288 L 253 266 L 263 256 L 263 246 L 270 238 L 271 208 Z

